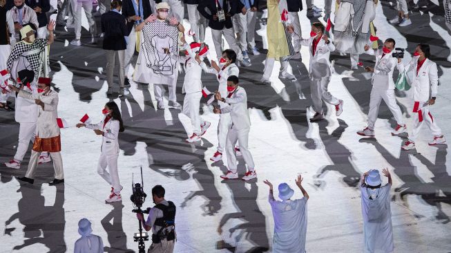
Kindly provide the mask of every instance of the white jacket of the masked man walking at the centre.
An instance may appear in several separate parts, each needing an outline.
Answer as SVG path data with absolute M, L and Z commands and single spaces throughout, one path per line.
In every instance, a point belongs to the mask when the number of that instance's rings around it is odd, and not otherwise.
M 247 94 L 244 88 L 238 86 L 231 97 L 225 97 L 225 104 L 227 106 L 221 109 L 221 113 L 230 113 L 233 128 L 242 130 L 251 127 L 251 119 L 247 109 Z

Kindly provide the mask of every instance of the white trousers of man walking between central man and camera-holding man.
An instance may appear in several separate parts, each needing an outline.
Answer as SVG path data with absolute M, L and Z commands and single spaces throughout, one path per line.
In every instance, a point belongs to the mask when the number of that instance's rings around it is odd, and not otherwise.
M 329 82 L 330 77 L 310 79 L 311 101 L 313 102 L 313 109 L 317 113 L 323 113 L 323 100 L 324 102 L 334 105 L 340 103 L 336 97 L 327 91 Z

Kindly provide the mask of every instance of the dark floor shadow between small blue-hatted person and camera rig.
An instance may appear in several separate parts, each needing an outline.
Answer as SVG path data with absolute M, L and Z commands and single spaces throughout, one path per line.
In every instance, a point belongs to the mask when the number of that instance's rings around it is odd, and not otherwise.
M 120 202 L 111 203 L 113 206 L 111 212 L 102 218 L 102 227 L 108 234 L 108 243 L 110 247 L 104 247 L 105 252 L 134 252 L 127 249 L 127 236 L 122 228 L 122 209 L 124 205 Z

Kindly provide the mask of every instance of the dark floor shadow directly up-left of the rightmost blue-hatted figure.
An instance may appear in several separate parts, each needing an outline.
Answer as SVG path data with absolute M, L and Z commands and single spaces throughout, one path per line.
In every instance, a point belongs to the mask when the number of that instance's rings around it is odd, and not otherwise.
M 320 138 L 324 144 L 324 149 L 332 160 L 333 165 L 327 165 L 321 168 L 316 174 L 316 178 L 323 178 L 327 171 L 337 171 L 340 174 L 345 175 L 343 182 L 349 187 L 356 187 L 360 180 L 360 173 L 354 169 L 352 163 L 352 153 L 343 144 L 339 142 L 341 135 L 347 129 L 348 125 L 344 120 L 338 119 L 339 127 L 335 129 L 330 135 L 327 132 L 327 120 L 318 122 Z M 323 181 L 318 180 L 315 182 L 317 187 L 324 187 Z

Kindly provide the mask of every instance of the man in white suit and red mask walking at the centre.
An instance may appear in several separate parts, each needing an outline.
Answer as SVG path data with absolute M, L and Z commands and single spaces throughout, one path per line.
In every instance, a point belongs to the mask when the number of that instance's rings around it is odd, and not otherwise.
M 228 106 L 222 109 L 215 108 L 214 113 L 230 113 L 232 124 L 227 132 L 226 140 L 226 153 L 227 153 L 227 167 L 229 171 L 222 179 L 236 179 L 238 178 L 238 172 L 236 171 L 236 151 L 235 144 L 237 141 L 240 142 L 240 151 L 244 162 L 247 164 L 248 171 L 242 177 L 242 180 L 251 180 L 257 178 L 255 165 L 253 164 L 253 159 L 251 152 L 249 151 L 247 145 L 249 141 L 249 129 L 251 127 L 251 120 L 249 118 L 249 111 L 247 109 L 247 95 L 244 88 L 238 86 L 238 77 L 231 75 L 227 78 L 227 91 L 229 95 L 227 97 L 221 97 L 220 92 L 215 93 L 215 97 L 218 101 L 222 101 Z

